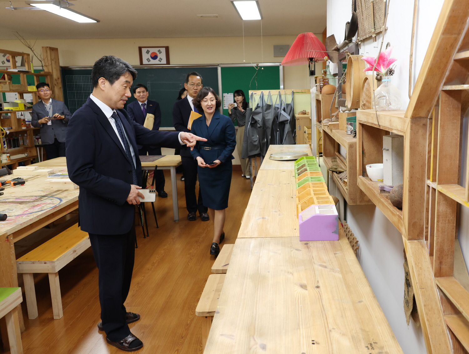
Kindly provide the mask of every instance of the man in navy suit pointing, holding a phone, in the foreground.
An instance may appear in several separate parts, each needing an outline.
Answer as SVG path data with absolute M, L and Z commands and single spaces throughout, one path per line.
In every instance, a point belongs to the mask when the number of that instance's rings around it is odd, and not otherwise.
M 177 148 L 201 138 L 185 132 L 150 130 L 123 109 L 136 70 L 113 55 L 94 63 L 94 89 L 72 116 L 67 129 L 67 167 L 80 186 L 80 226 L 90 235 L 99 270 L 101 320 L 107 343 L 135 351 L 143 346 L 129 329 L 140 315 L 126 312 L 135 256 L 135 204 L 139 204 L 142 168 L 137 144 Z M 205 141 L 205 139 L 202 139 Z

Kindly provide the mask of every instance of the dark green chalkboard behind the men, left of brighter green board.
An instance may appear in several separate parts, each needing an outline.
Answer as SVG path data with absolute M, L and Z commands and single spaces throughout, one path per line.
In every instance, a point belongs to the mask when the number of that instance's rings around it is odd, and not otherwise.
M 161 127 L 173 127 L 173 105 L 179 90 L 184 87 L 186 75 L 197 71 L 204 79 L 204 86 L 210 86 L 218 93 L 217 67 L 184 68 L 137 68 L 133 87 L 143 83 L 148 87 L 149 98 L 157 101 L 161 108 Z M 62 69 L 64 101 L 71 113 L 80 108 L 93 91 L 91 69 Z M 133 94 L 133 87 L 131 92 Z M 128 103 L 135 101 L 132 96 Z

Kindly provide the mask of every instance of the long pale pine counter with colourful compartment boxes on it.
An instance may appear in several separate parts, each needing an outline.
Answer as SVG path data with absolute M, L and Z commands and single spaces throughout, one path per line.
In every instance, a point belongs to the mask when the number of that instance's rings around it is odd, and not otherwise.
M 343 229 L 300 242 L 294 196 L 291 168 L 261 167 L 204 353 L 402 353 Z

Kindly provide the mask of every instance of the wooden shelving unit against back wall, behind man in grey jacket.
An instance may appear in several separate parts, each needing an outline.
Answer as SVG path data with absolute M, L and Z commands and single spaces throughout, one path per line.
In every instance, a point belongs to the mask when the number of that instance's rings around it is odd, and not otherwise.
M 31 72 L 31 59 L 30 59 L 30 54 L 28 53 L 21 53 L 21 52 L 14 52 L 14 51 L 8 51 L 4 49 L 0 49 L 0 53 L 8 54 L 10 55 L 10 69 L 16 69 L 16 60 L 15 57 L 21 56 L 24 59 L 25 67 L 26 70 L 29 71 L 10 71 L 10 70 L 0 70 L 0 75 L 5 74 L 5 79 L 4 81 L 0 81 L 0 92 L 16 92 L 18 93 L 18 98 L 23 99 L 23 96 L 25 93 L 31 93 L 32 98 L 33 98 L 33 104 L 38 102 L 38 93 L 37 91 L 30 91 L 28 90 L 28 82 L 26 80 L 26 75 L 33 75 L 34 76 L 34 84 L 39 83 L 39 77 L 45 76 L 49 80 L 52 78 L 52 74 L 50 72 L 40 72 L 40 73 L 32 73 Z M 14 75 L 19 75 L 20 77 L 20 83 L 19 84 L 14 84 L 13 83 L 13 76 Z M 51 90 L 52 90 L 52 95 L 54 97 L 54 88 L 51 85 Z M 8 90 L 7 90 L 8 89 Z M 16 168 L 18 166 L 18 162 L 25 162 L 27 165 L 29 165 L 30 160 L 37 157 L 37 151 L 36 148 L 34 147 L 34 139 L 33 139 L 33 129 L 34 128 L 22 128 L 22 122 L 21 119 L 17 117 L 18 112 L 31 112 L 32 109 L 24 109 L 20 111 L 0 111 L 0 114 L 10 114 L 10 118 L 1 118 L 0 119 L 0 126 L 1 127 L 11 127 L 11 129 L 8 129 L 9 134 L 7 136 L 4 136 L 3 139 L 5 138 L 11 138 L 11 137 L 16 137 L 19 135 L 24 136 L 24 134 L 27 135 L 29 144 L 28 145 L 20 145 L 18 148 L 13 148 L 13 149 L 4 149 L 3 148 L 3 143 L 0 143 L 0 154 L 4 153 L 5 151 L 8 151 L 8 153 L 11 156 L 19 155 L 19 154 L 25 154 L 27 153 L 28 156 L 24 156 L 21 158 L 15 158 L 12 159 L 11 161 L 5 162 L 5 163 L 0 163 L 0 167 L 6 166 L 6 165 L 13 165 L 13 168 Z

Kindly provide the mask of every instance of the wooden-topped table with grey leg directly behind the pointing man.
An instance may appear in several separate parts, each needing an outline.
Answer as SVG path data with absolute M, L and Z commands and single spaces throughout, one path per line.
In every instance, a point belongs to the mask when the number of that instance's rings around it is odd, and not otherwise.
M 180 155 L 166 155 L 153 162 L 142 162 L 142 169 L 153 170 L 155 166 L 158 166 L 159 170 L 170 170 L 171 171 L 171 188 L 173 194 L 173 214 L 174 221 L 179 221 L 179 205 L 177 200 L 177 183 L 176 183 L 176 167 L 181 165 Z M 53 167 L 53 166 L 67 166 L 66 158 L 53 158 L 33 164 L 31 166 L 41 167 Z

